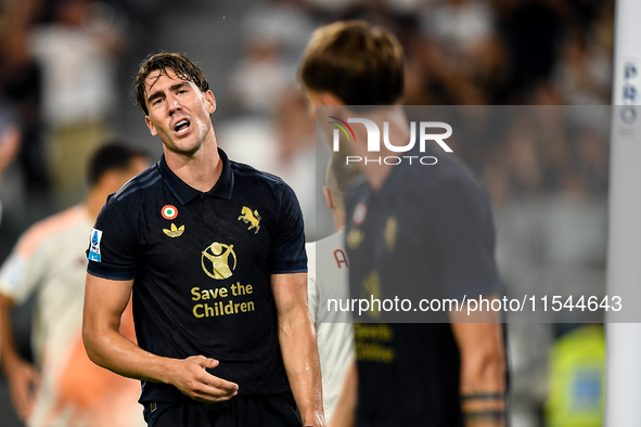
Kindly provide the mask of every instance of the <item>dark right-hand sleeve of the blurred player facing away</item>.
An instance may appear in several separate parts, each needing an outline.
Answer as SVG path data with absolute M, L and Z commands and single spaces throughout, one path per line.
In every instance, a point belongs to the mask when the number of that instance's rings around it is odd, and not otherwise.
M 453 177 L 430 200 L 441 292 L 448 298 L 500 290 L 489 196 L 472 176 Z

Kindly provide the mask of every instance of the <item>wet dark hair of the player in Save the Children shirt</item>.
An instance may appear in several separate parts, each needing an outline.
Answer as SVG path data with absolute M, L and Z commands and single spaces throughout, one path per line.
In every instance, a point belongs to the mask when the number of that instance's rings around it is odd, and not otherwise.
M 167 75 L 167 69 L 176 73 L 179 79 L 193 82 L 202 92 L 209 90 L 207 77 L 193 62 L 180 53 L 161 52 L 149 55 L 138 70 L 133 91 L 136 92 L 136 102 L 145 116 L 149 115 L 145 100 L 145 80 L 153 72 L 161 70 L 158 77 Z

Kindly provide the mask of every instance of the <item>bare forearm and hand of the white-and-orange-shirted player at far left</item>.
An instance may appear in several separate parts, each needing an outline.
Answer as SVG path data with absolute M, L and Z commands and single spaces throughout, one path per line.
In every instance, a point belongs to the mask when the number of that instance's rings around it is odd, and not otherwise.
M 40 374 L 15 348 L 9 315 L 14 305 L 13 298 L 0 293 L 0 362 L 9 383 L 13 406 L 24 422 L 31 414 Z

